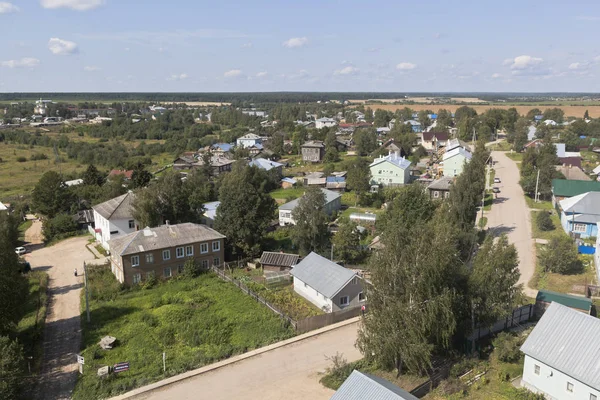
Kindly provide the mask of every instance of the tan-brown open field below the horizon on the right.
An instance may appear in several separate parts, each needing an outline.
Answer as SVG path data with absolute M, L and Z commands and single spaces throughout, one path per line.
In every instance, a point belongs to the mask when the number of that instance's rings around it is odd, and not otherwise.
M 581 102 L 579 102 L 581 103 Z M 366 103 L 365 106 L 371 107 L 372 109 L 383 109 L 386 111 L 396 111 L 401 110 L 404 107 L 408 107 L 414 111 L 421 110 L 432 110 L 437 112 L 438 110 L 445 109 L 450 112 L 455 112 L 456 109 L 462 107 L 462 104 L 369 104 Z M 519 114 L 525 115 L 530 110 L 534 108 L 539 108 L 542 112 L 548 108 L 560 108 L 565 112 L 565 116 L 567 117 L 578 117 L 582 118 L 583 114 L 586 110 L 588 110 L 590 117 L 598 118 L 600 117 L 600 103 L 594 102 L 590 103 L 590 105 L 560 105 L 560 104 L 551 104 L 551 105 L 507 105 L 506 103 L 502 104 L 486 104 L 486 105 L 469 105 L 469 107 L 474 108 L 477 113 L 481 114 L 490 108 L 499 108 L 503 110 L 507 110 L 509 108 L 516 108 Z

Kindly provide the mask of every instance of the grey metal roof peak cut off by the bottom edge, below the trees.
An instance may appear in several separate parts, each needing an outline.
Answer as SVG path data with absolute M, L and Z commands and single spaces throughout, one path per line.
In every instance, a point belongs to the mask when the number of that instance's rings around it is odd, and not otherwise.
M 330 400 L 418 400 L 406 390 L 378 376 L 352 371 Z

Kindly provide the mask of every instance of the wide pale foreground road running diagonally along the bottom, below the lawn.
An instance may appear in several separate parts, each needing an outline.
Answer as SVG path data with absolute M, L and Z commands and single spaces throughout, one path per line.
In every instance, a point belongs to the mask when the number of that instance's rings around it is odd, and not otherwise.
M 331 364 L 326 357 L 338 352 L 348 361 L 361 358 L 354 347 L 357 328 L 358 323 L 346 325 L 137 399 L 326 400 L 333 390 L 319 383 L 319 372 Z

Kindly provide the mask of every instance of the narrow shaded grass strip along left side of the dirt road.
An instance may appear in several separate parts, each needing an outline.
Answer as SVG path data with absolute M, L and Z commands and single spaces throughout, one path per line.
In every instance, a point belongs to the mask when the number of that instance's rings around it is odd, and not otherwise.
M 27 274 L 29 293 L 24 304 L 24 316 L 17 326 L 17 337 L 23 345 L 23 354 L 31 359 L 31 373 L 37 374 L 42 364 L 43 337 L 46 319 L 48 274 L 31 271 Z

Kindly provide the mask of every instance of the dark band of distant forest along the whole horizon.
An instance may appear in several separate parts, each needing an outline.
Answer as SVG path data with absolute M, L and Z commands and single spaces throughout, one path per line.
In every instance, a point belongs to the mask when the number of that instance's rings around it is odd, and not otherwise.
M 498 100 L 518 99 L 519 101 L 539 101 L 550 97 L 598 98 L 597 93 L 409 93 L 409 92 L 231 92 L 231 93 L 0 93 L 0 101 L 25 101 L 40 98 L 53 101 L 213 101 L 213 102 L 256 102 L 290 103 L 316 102 L 328 100 L 368 100 L 397 99 L 409 97 L 477 97 L 494 102 Z

